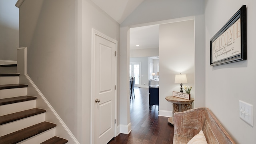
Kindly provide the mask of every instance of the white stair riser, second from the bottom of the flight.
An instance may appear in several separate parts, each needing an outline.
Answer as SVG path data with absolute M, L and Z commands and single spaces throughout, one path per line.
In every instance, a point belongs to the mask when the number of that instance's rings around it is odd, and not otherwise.
M 37 114 L 35 116 L 30 116 L 28 118 L 23 118 L 21 120 L 16 120 L 14 122 L 9 122 L 7 124 L 2 124 L 0 126 L 0 136 L 10 134 L 17 130 L 21 130 L 29 126 L 33 126 L 35 124 L 38 124 L 44 121 L 45 121 L 45 113 L 42 113 L 42 114 Z

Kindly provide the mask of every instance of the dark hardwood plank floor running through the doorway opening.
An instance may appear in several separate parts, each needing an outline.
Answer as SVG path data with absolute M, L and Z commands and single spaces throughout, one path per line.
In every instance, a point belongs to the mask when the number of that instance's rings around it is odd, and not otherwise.
M 148 88 L 134 88 L 130 100 L 130 134 L 119 134 L 108 144 L 172 144 L 173 126 L 167 117 L 158 116 L 158 106 L 149 110 Z

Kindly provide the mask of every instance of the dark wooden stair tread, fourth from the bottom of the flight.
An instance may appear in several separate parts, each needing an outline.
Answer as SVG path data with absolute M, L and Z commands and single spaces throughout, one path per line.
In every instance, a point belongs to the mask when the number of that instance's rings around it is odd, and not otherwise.
M 17 102 L 25 102 L 28 100 L 35 100 L 35 96 L 17 96 L 13 98 L 3 98 L 0 99 L 0 106 L 5 105 L 5 104 L 13 104 Z

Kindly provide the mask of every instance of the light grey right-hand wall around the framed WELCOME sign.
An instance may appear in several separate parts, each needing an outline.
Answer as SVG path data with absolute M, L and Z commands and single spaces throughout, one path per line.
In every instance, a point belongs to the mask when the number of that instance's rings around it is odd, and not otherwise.
M 247 7 L 247 60 L 210 66 L 210 39 L 242 5 Z M 205 0 L 205 105 L 238 144 L 256 143 L 255 14 L 255 0 Z M 254 127 L 239 118 L 239 100 L 254 106 Z

